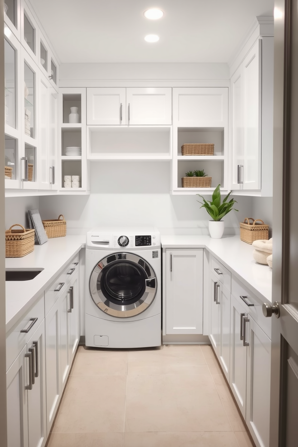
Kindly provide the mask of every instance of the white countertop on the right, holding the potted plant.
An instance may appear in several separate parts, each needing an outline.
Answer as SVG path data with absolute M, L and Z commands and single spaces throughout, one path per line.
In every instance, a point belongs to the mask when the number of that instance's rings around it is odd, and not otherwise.
M 163 248 L 206 248 L 261 301 L 272 302 L 272 269 L 252 257 L 254 248 L 240 236 L 161 236 Z

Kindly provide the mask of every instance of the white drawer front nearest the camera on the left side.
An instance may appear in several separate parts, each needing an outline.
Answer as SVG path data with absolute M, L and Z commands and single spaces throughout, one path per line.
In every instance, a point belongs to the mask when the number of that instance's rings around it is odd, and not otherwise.
M 26 312 L 18 323 L 9 331 L 6 337 L 6 371 L 13 364 L 21 350 L 38 328 L 45 317 L 44 296 L 35 302 L 32 308 Z M 30 329 L 29 329 L 30 328 Z M 28 330 L 28 332 L 21 332 Z

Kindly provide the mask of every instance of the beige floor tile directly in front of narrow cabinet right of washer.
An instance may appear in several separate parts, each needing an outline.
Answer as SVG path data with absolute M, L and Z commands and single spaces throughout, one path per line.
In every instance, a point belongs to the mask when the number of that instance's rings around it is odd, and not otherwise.
M 162 346 L 128 353 L 127 374 L 210 374 L 200 346 Z

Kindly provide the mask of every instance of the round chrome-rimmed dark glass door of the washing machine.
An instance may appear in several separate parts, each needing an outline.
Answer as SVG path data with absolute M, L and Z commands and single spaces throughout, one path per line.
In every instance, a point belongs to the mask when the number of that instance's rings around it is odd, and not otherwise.
M 94 267 L 90 294 L 103 312 L 118 317 L 138 315 L 150 306 L 156 294 L 152 267 L 133 253 L 115 253 Z

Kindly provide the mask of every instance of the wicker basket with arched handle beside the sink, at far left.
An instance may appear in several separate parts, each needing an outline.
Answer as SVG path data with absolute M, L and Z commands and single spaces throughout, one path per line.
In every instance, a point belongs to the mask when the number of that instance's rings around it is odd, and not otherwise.
M 13 230 L 21 227 L 22 230 Z M 5 257 L 22 257 L 34 250 L 35 230 L 26 230 L 19 223 L 12 225 L 5 232 Z

